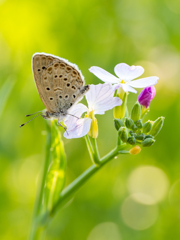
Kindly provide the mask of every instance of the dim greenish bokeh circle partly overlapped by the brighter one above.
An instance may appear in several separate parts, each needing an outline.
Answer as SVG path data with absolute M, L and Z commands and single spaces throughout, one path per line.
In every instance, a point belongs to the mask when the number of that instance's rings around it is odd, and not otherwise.
M 145 205 L 134 200 L 133 195 L 126 198 L 121 206 L 124 223 L 135 230 L 151 227 L 158 218 L 157 205 Z

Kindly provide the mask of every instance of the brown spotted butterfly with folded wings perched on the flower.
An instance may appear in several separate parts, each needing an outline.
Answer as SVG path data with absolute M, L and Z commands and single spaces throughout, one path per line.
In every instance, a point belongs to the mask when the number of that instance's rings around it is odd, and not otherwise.
M 69 114 L 69 109 L 82 99 L 90 86 L 84 86 L 84 77 L 77 65 L 51 54 L 35 53 L 32 71 L 39 96 L 46 107 L 45 112 L 39 111 L 41 113 L 34 118 L 39 115 L 45 119 L 56 118 L 58 125 L 62 126 L 60 122 Z

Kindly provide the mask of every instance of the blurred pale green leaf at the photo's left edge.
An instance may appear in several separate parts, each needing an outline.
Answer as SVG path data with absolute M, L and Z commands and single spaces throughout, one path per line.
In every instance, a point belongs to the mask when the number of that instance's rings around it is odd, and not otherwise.
M 12 79 L 6 80 L 0 89 L 0 117 L 4 110 L 5 104 L 8 100 L 9 94 L 14 86 L 14 81 Z

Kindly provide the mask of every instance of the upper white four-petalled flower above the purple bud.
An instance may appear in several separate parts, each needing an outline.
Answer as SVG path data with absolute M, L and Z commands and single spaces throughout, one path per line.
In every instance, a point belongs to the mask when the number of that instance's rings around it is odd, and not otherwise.
M 118 77 L 115 77 L 114 75 L 100 67 L 91 67 L 89 71 L 93 73 L 96 77 L 101 79 L 103 82 L 111 84 L 120 83 L 122 89 L 125 92 L 133 93 L 137 93 L 134 88 L 145 88 L 149 86 L 154 86 L 159 79 L 158 77 L 153 76 L 132 81 L 133 79 L 143 74 L 144 68 L 141 66 L 129 66 L 126 63 L 119 63 L 115 66 L 114 72 Z

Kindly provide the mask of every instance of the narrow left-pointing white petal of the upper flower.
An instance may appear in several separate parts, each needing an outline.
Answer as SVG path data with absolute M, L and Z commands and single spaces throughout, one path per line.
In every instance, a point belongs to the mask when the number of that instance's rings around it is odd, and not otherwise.
M 100 67 L 90 67 L 89 71 L 93 73 L 96 77 L 101 79 L 103 82 L 108 82 L 108 83 L 118 83 L 119 79 L 112 75 L 111 73 L 105 71 L 104 69 Z

